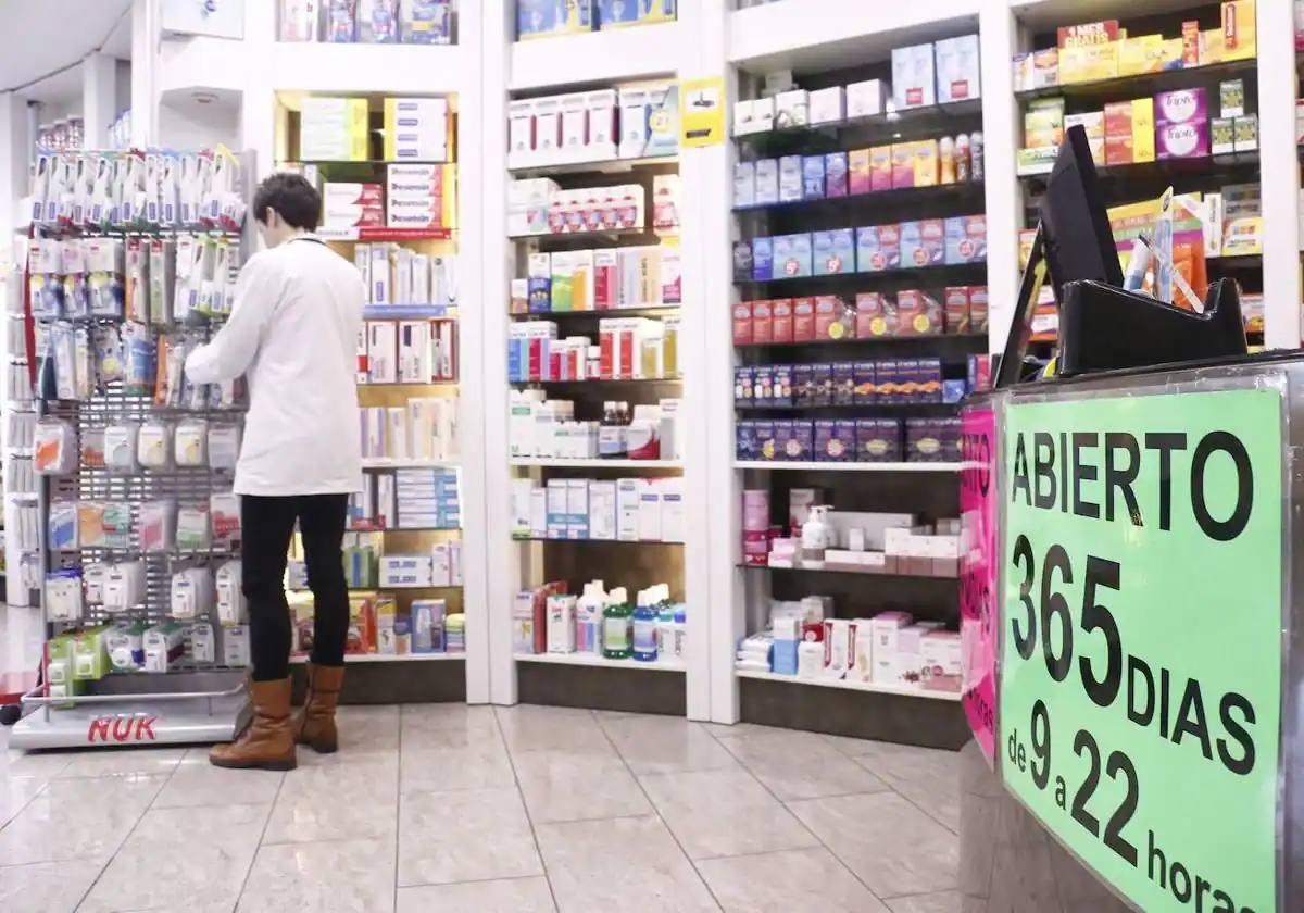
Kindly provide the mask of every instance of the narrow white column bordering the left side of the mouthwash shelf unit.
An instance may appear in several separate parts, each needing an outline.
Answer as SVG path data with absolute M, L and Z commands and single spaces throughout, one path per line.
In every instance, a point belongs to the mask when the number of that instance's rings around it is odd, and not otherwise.
M 484 397 L 485 550 L 489 614 L 489 693 L 496 704 L 516 703 L 516 661 L 511 651 L 511 599 L 520 584 L 520 546 L 509 539 L 507 484 L 507 291 L 515 275 L 515 247 L 507 241 L 507 83 L 512 0 L 485 0 L 481 18 L 480 200 L 484 270 L 484 338 L 477 352 Z M 469 184 L 467 185 L 469 189 Z M 469 350 L 467 350 L 469 351 Z M 466 363 L 463 363 L 466 364 Z

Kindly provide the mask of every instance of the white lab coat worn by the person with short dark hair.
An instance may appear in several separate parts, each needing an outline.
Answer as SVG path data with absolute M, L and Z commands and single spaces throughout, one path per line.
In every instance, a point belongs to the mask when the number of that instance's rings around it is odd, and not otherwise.
M 231 318 L 185 360 L 186 376 L 249 386 L 237 494 L 361 490 L 357 339 L 366 290 L 323 244 L 296 239 L 249 258 Z

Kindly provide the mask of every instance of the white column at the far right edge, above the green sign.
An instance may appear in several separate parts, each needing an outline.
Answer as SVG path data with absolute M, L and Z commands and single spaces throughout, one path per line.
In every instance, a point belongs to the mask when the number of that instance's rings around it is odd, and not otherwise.
M 1264 343 L 1300 344 L 1300 168 L 1295 146 L 1295 20 L 1288 3 L 1258 9 L 1258 160 L 1264 200 Z

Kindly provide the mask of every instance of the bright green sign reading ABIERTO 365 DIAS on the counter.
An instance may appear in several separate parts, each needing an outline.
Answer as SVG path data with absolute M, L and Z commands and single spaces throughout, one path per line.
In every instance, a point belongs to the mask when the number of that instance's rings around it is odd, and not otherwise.
M 1277 909 L 1282 397 L 1005 412 L 1005 785 L 1148 913 Z

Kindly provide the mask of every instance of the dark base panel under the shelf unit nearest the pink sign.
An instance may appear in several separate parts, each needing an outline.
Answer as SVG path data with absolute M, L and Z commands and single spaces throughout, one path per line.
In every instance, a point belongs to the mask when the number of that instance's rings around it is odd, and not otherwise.
M 951 700 L 755 678 L 739 678 L 738 689 L 743 723 L 952 751 L 970 738 L 964 710 Z

